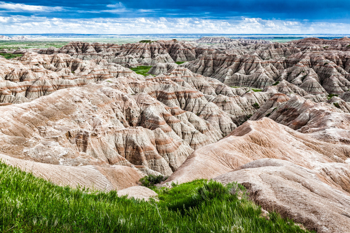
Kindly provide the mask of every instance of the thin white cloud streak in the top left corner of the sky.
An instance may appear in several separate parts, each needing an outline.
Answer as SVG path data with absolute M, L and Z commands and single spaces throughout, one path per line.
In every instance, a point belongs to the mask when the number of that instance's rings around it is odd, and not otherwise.
M 34 6 L 22 3 L 0 2 L 0 9 L 9 12 L 53 12 L 62 11 L 62 7 Z

